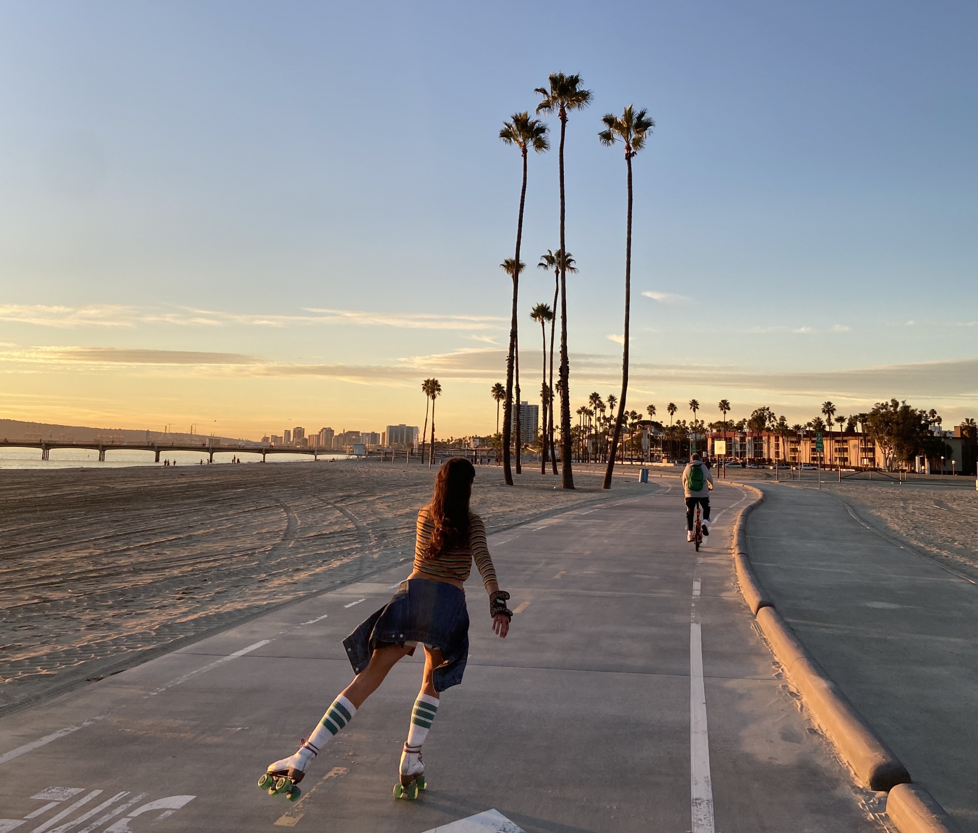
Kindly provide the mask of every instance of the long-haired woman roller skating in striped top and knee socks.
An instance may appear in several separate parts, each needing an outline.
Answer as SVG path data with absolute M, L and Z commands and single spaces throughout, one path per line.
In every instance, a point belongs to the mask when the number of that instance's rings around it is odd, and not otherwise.
M 468 611 L 464 582 L 472 561 L 489 594 L 493 630 L 505 637 L 512 612 L 510 594 L 500 590 L 486 545 L 485 525 L 468 509 L 475 469 L 453 457 L 439 470 L 431 502 L 418 513 L 415 563 L 393 598 L 343 640 L 356 676 L 327 710 L 315 730 L 290 758 L 268 767 L 258 784 L 269 793 L 298 797 L 293 785 L 312 760 L 356 715 L 387 672 L 405 656 L 424 648 L 422 687 L 412 709 L 394 795 L 416 798 L 424 788 L 422 744 L 438 712 L 440 694 L 462 682 L 468 657 Z

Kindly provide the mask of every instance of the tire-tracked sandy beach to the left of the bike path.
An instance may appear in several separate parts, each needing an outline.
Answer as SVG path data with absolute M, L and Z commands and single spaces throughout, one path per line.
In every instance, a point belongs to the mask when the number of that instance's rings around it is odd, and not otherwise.
M 407 560 L 432 481 L 358 461 L 4 472 L 0 714 Z M 576 482 L 479 467 L 473 508 L 494 532 L 643 488 Z

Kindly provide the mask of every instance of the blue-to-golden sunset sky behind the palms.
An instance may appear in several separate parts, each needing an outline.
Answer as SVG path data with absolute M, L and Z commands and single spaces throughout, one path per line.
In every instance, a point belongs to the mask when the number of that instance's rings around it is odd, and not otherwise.
M 976 36 L 965 2 L 5 2 L 0 417 L 382 431 L 436 376 L 439 435 L 493 431 L 498 133 L 556 70 L 594 92 L 567 132 L 574 407 L 620 384 L 625 164 L 597 134 L 635 104 L 631 407 L 978 417 Z M 524 394 L 556 164 L 530 160 Z

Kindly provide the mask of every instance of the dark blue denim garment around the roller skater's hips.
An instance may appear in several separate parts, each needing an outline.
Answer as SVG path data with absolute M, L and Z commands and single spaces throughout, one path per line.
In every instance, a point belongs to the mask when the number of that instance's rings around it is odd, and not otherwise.
M 435 691 L 462 682 L 468 660 L 465 592 L 430 578 L 402 581 L 393 598 L 343 640 L 343 647 L 354 673 L 360 673 L 376 649 L 419 642 L 438 648 L 444 658 L 433 673 Z

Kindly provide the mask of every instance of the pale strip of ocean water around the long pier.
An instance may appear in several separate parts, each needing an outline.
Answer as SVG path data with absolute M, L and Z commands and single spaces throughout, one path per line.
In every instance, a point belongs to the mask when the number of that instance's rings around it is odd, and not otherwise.
M 213 465 L 228 465 L 232 457 L 237 457 L 237 451 L 219 451 L 214 454 Z M 351 455 L 347 454 L 320 454 L 322 460 L 346 460 Z M 85 448 L 52 448 L 50 460 L 41 459 L 40 448 L 0 448 L 0 469 L 75 469 L 75 468 L 99 468 L 99 469 L 121 469 L 132 466 L 162 466 L 164 460 L 169 460 L 171 464 L 177 466 L 200 466 L 207 465 L 207 455 L 200 454 L 198 451 L 160 451 L 159 462 L 154 462 L 156 455 L 153 451 L 129 451 L 129 450 L 108 450 L 106 451 L 106 461 L 99 462 L 99 452 Z M 313 458 L 309 454 L 269 454 L 266 458 L 269 463 L 312 463 Z M 241 454 L 242 465 L 248 463 L 260 463 L 260 454 Z

